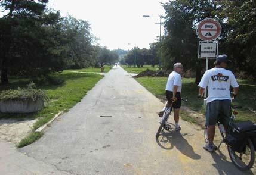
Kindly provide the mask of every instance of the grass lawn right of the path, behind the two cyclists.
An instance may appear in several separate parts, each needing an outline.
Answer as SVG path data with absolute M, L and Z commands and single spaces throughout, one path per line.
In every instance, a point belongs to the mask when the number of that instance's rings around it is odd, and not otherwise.
M 140 77 L 136 79 L 153 95 L 156 95 L 160 99 L 165 99 L 165 86 L 167 77 Z M 184 105 L 190 107 L 194 111 L 204 113 L 203 100 L 198 99 L 199 88 L 194 83 L 195 79 L 183 78 L 183 87 L 181 96 L 187 97 L 188 102 Z M 240 91 L 239 95 L 234 101 L 236 105 L 242 105 L 243 108 L 239 109 L 239 114 L 236 116 L 236 120 L 251 120 L 256 122 L 256 114 L 249 111 L 248 108 L 256 110 L 256 83 L 249 82 L 247 80 L 238 80 Z

